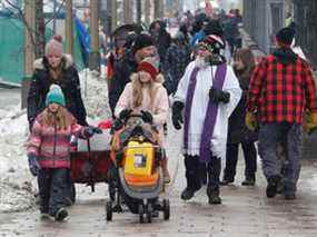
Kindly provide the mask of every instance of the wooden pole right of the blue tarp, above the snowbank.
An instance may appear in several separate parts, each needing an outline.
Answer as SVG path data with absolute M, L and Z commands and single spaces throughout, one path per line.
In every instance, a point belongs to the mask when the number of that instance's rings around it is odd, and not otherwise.
M 91 52 L 89 56 L 90 70 L 100 71 L 99 52 L 99 0 L 90 0 L 90 37 Z

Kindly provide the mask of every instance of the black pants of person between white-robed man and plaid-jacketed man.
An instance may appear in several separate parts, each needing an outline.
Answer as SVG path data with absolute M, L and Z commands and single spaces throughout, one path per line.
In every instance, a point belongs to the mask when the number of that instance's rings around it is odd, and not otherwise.
M 254 142 L 241 142 L 245 156 L 245 176 L 255 175 L 257 171 L 257 149 Z M 226 168 L 224 178 L 234 180 L 236 176 L 239 154 L 239 144 L 227 144 Z

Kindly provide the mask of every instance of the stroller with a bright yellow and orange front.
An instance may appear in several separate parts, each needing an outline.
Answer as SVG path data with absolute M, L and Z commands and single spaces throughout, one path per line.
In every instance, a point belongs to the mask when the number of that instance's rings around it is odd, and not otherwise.
M 112 140 L 112 144 L 117 142 L 121 136 L 118 146 L 112 146 L 116 175 L 111 179 L 117 186 L 117 200 L 112 198 L 107 203 L 107 220 L 112 219 L 113 211 L 121 210 L 120 198 L 123 198 L 132 214 L 139 215 L 140 223 L 143 223 L 145 217 L 151 223 L 153 213 L 158 211 L 164 213 L 164 219 L 169 219 L 170 216 L 169 200 L 159 200 L 159 194 L 164 189 L 164 176 L 162 148 L 157 142 L 157 131 L 152 126 L 143 124 L 140 117 L 137 118 L 135 122 L 118 131 Z M 112 201 L 116 201 L 115 210 Z

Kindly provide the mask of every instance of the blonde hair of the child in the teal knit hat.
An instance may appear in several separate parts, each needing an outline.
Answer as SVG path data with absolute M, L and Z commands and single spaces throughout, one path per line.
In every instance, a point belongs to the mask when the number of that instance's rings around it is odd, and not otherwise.
M 57 112 L 46 108 L 42 112 L 42 124 L 47 127 L 57 127 L 58 130 L 66 130 L 72 122 L 73 117 L 63 108 L 59 107 Z

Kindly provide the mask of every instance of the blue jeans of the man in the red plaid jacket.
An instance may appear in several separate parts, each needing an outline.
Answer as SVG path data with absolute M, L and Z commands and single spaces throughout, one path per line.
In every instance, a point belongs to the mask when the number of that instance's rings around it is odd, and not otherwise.
M 277 156 L 278 146 L 283 146 L 286 154 L 284 185 L 286 192 L 295 192 L 300 170 L 303 127 L 289 122 L 267 122 L 259 130 L 259 155 L 262 170 L 268 179 L 273 176 L 281 177 L 281 164 Z

